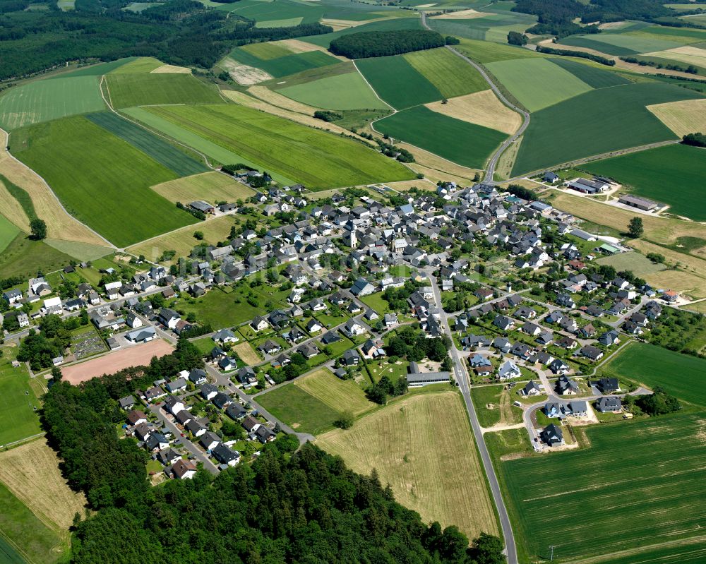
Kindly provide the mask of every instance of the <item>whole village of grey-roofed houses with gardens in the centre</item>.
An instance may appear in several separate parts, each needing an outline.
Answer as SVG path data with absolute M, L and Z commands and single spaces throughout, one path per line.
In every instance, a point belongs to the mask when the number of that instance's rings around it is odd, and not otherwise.
M 258 175 L 241 181 L 261 184 Z M 577 186 L 591 183 L 599 181 Z M 562 429 L 567 421 L 596 421 L 595 412 L 628 418 L 621 397 L 650 393 L 592 376 L 602 359 L 659 323 L 677 294 L 597 263 L 628 249 L 580 229 L 566 212 L 487 184 L 440 183 L 436 193 L 378 185 L 322 203 L 304 193 L 304 186 L 270 187 L 246 205 L 189 204 L 206 216 L 239 212 L 252 221 L 171 267 L 133 258 L 131 270 L 102 269 L 102 284 L 90 284 L 96 269 L 82 263 L 6 289 L 6 341 L 44 331 L 47 316 L 82 318 L 88 337 L 50 362 L 28 363 L 37 377 L 60 371 L 72 383 L 147 364 L 180 338 L 195 343 L 203 370 L 157 380 L 119 401 L 123 433 L 150 452 L 157 480 L 191 478 L 198 463 L 217 473 L 258 456 L 279 433 L 313 439 L 259 401 L 320 368 L 344 379 L 394 370 L 404 390 L 450 385 L 469 404 L 467 381 L 503 383 L 538 451 L 572 442 Z M 273 227 L 270 218 L 293 220 Z M 72 285 L 73 296 L 59 292 L 66 280 L 83 280 Z M 203 322 L 198 299 L 248 287 L 272 296 L 263 303 L 243 294 L 256 315 L 227 327 Z M 179 313 L 184 304 L 196 311 Z M 450 357 L 386 368 L 390 340 L 402 328 L 445 340 Z M 164 347 L 150 348 L 159 343 Z

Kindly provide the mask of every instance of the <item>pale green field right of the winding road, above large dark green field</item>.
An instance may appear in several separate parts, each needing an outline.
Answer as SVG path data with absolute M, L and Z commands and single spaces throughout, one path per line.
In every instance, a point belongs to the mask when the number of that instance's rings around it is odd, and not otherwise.
M 530 112 L 591 90 L 590 85 L 549 59 L 517 59 L 486 65 Z

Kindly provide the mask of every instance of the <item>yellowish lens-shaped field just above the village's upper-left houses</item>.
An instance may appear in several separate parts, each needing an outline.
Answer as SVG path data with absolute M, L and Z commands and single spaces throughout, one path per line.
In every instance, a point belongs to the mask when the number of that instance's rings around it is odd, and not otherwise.
M 254 193 L 252 188 L 234 180 L 232 176 L 215 171 L 170 180 L 152 186 L 152 190 L 170 202 L 235 202 L 250 198 Z

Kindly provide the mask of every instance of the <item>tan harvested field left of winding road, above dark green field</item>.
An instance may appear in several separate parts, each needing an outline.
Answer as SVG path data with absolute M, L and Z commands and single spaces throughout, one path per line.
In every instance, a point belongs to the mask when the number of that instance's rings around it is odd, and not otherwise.
M 505 106 L 492 90 L 473 92 L 465 96 L 449 98 L 445 104 L 431 102 L 424 104 L 439 114 L 455 117 L 469 124 L 489 127 L 496 131 L 512 134 L 522 125 L 522 117 Z

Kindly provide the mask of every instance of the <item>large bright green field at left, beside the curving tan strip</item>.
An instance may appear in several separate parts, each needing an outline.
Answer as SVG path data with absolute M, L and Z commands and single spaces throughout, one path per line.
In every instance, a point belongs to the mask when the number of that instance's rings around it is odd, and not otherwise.
M 150 190 L 177 175 L 88 119 L 17 133 L 13 154 L 44 177 L 69 212 L 118 246 L 196 222 Z

